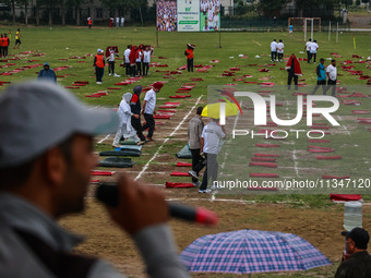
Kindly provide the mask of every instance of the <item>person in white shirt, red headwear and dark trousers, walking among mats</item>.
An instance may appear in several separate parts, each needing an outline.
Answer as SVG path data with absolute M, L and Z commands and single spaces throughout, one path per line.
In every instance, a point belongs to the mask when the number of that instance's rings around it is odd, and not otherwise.
M 147 141 L 153 141 L 152 136 L 155 130 L 155 119 L 153 116 L 156 114 L 156 94 L 159 93 L 163 86 L 161 82 L 155 82 L 153 88 L 144 97 L 142 114 L 144 116 L 145 123 L 142 125 L 142 131 L 148 129 Z

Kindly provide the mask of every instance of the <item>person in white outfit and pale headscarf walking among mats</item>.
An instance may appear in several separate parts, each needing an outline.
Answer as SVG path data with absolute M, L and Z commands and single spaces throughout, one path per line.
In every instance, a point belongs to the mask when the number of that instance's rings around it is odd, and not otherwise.
M 134 114 L 131 112 L 131 108 L 130 108 L 131 98 L 132 98 L 131 93 L 123 94 L 119 109 L 117 110 L 119 118 L 120 118 L 120 124 L 113 138 L 113 143 L 112 143 L 113 147 L 120 147 L 121 136 L 123 136 L 123 138 L 131 138 L 137 144 L 141 142 L 140 138 L 136 136 L 136 131 L 131 125 L 131 118 L 132 117 L 136 119 L 139 118 L 137 114 Z

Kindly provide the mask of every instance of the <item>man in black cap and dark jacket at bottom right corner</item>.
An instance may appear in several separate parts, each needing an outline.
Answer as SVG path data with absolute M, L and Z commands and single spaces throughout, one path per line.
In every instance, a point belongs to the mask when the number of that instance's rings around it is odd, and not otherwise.
M 371 277 L 371 256 L 367 252 L 370 241 L 369 233 L 362 228 L 342 232 L 346 237 L 346 249 L 349 259 L 342 262 L 335 278 L 369 278 Z

